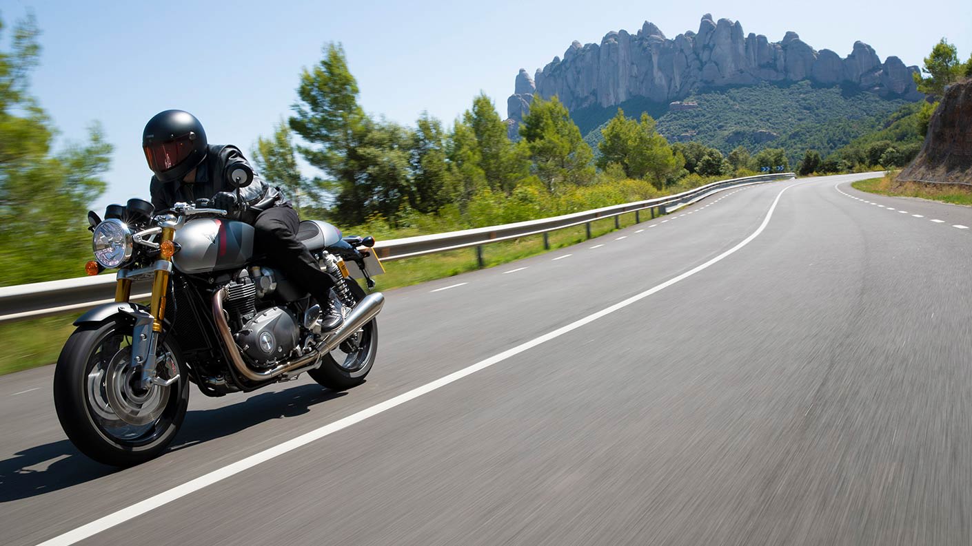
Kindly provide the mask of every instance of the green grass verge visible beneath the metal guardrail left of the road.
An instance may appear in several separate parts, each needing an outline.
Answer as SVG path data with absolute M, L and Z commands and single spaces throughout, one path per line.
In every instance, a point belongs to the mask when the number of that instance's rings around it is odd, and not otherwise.
M 642 212 L 642 222 L 649 219 Z M 635 214 L 618 218 L 621 227 L 635 223 Z M 591 236 L 598 237 L 614 231 L 614 220 L 591 222 Z M 550 250 L 568 247 L 587 238 L 583 225 L 549 233 Z M 528 256 L 543 254 L 543 236 L 534 235 L 483 247 L 486 267 L 501 265 Z M 430 256 L 417 256 L 384 263 L 385 274 L 375 278 L 376 290 L 391 290 L 417 285 L 434 279 L 451 277 L 478 269 L 475 248 L 451 251 Z M 81 312 L 45 319 L 34 319 L 0 326 L 0 375 L 27 368 L 51 364 L 57 360 L 61 347 L 74 331 L 74 320 Z

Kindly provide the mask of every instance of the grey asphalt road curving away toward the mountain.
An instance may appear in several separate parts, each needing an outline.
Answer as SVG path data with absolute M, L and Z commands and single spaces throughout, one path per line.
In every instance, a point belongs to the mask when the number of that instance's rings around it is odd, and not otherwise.
M 363 386 L 193 392 L 135 468 L 0 378 L 0 543 L 968 544 L 972 209 L 866 177 L 390 290 Z

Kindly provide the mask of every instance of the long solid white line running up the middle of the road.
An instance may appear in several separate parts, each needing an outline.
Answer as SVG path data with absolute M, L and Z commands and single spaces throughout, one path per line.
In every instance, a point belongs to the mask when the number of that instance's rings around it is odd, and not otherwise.
M 566 324 L 566 325 L 561 326 L 561 327 L 559 327 L 559 328 L 557 328 L 557 329 L 555 329 L 553 331 L 547 332 L 547 333 L 545 333 L 545 334 L 543 334 L 543 335 L 541 335 L 541 336 L 539 336 L 537 338 L 534 338 L 534 339 L 532 339 L 530 341 L 527 341 L 525 343 L 521 343 L 520 345 L 517 345 L 516 347 L 513 347 L 511 349 L 507 349 L 507 350 L 503 351 L 503 353 L 500 353 L 500 354 L 495 355 L 495 356 L 490 357 L 490 358 L 486 358 L 485 360 L 480 360 L 480 361 L 478 361 L 478 362 L 476 362 L 476 363 L 474 363 L 474 364 L 472 364 L 472 365 L 470 365 L 468 367 L 465 367 L 465 368 L 463 368 L 463 369 L 461 369 L 459 371 L 455 371 L 453 373 L 450 373 L 449 375 L 446 375 L 445 377 L 441 377 L 439 379 L 436 379 L 432 383 L 427 383 L 427 384 L 425 384 L 425 385 L 423 385 L 421 387 L 417 387 L 417 388 L 415 388 L 415 389 L 413 389 L 413 390 L 411 390 L 409 392 L 403 392 L 403 393 L 399 394 L 398 396 L 395 396 L 393 398 L 389 398 L 388 400 L 385 400 L 384 402 L 379 402 L 379 403 L 377 403 L 377 404 L 375 404 L 375 405 L 373 405 L 373 406 L 371 406 L 369 408 L 365 408 L 365 409 L 359 411 L 358 413 L 349 415 L 348 417 L 345 417 L 343 419 L 339 419 L 339 420 L 337 420 L 337 421 L 335 421 L 333 423 L 330 423 L 329 425 L 325 425 L 324 427 L 316 428 L 316 429 L 311 430 L 309 432 L 305 432 L 305 433 L 303 433 L 303 434 L 295 437 L 294 439 L 287 440 L 286 442 L 283 442 L 283 443 L 278 444 L 276 446 L 273 446 L 271 448 L 265 449 L 265 450 L 261 451 L 260 453 L 257 453 L 255 455 L 251 455 L 250 457 L 247 457 L 247 458 L 242 459 L 240 461 L 236 461 L 236 462 L 227 464 L 223 468 L 219 468 L 219 469 L 213 470 L 212 472 L 209 472 L 207 474 L 203 474 L 202 476 L 199 476 L 198 478 L 192 479 L 192 480 L 190 480 L 190 481 L 188 481 L 188 482 L 186 482 L 186 483 L 184 483 L 182 485 L 178 485 L 178 486 L 176 486 L 176 487 L 174 487 L 174 488 L 172 488 L 170 490 L 164 491 L 164 492 L 159 493 L 157 495 L 150 496 L 149 498 L 146 498 L 145 500 L 142 500 L 141 502 L 136 502 L 135 504 L 132 504 L 131 506 L 128 506 L 126 508 L 122 508 L 121 510 L 119 510 L 117 512 L 114 512 L 112 514 L 109 514 L 107 516 L 104 516 L 103 518 L 99 518 L 99 519 L 97 519 L 97 520 L 95 520 L 95 521 L 93 521 L 93 522 L 91 522 L 91 523 L 89 523 L 87 525 L 81 526 L 78 529 L 69 530 L 69 531 L 65 532 L 64 534 L 57 535 L 57 536 L 53 537 L 52 539 L 50 539 L 48 541 L 42 542 L 40 546 L 54 546 L 54 545 L 57 545 L 57 546 L 67 546 L 69 544 L 74 544 L 76 542 L 79 542 L 81 540 L 84 540 L 84 539 L 86 539 L 86 538 L 88 538 L 88 537 L 90 537 L 90 536 L 92 536 L 94 534 L 97 534 L 98 532 L 101 532 L 101 531 L 103 531 L 105 529 L 111 529 L 111 528 L 113 528 L 113 527 L 115 527 L 117 525 L 120 525 L 120 524 L 122 524 L 124 522 L 127 522 L 127 521 L 129 521 L 131 519 L 137 518 L 138 516 L 141 516 L 143 514 L 149 513 L 151 511 L 155 510 L 156 508 L 158 508 L 159 506 L 163 506 L 165 504 L 168 504 L 169 502 L 172 502 L 173 500 L 176 500 L 178 498 L 182 498 L 183 496 L 190 495 L 190 494 L 195 493 L 195 492 L 197 492 L 197 491 L 199 491 L 199 490 L 201 490 L 203 488 L 206 488 L 206 487 L 211 486 L 211 485 L 213 485 L 215 483 L 221 482 L 221 481 L 225 480 L 226 478 L 229 478 L 230 476 L 233 476 L 235 474 L 238 474 L 238 473 L 240 473 L 240 472 L 242 472 L 244 470 L 248 470 L 250 468 L 253 468 L 254 466 L 257 466 L 258 464 L 260 464 L 261 462 L 270 461 L 271 459 L 274 459 L 276 457 L 279 457 L 281 455 L 284 455 L 286 453 L 289 453 L 291 451 L 294 451 L 295 449 L 300 448 L 300 447 L 303 447 L 303 446 L 305 446 L 305 445 L 307 445 L 307 444 L 309 444 L 311 442 L 320 440 L 321 438 L 324 438 L 325 436 L 329 436 L 330 434 L 333 434 L 334 432 L 337 432 L 339 430 L 343 430 L 344 428 L 347 428 L 347 427 L 351 427 L 352 425 L 356 425 L 358 423 L 361 423 L 362 421 L 364 421 L 366 419 L 369 419 L 369 418 L 374 417 L 374 416 L 376 416 L 378 414 L 381 414 L 383 412 L 386 412 L 386 411 L 388 411 L 388 410 L 390 410 L 392 408 L 398 407 L 398 406 L 400 406 L 401 404 L 403 404 L 405 402 L 408 402 L 410 400 L 413 400 L 415 398 L 418 398 L 419 396 L 422 396 L 423 394 L 428 394 L 429 392 L 433 392 L 435 390 L 441 389 L 442 387 L 445 387 L 446 385 L 449 385 L 451 383 L 455 383 L 455 382 L 459 381 L 460 379 L 463 379 L 464 377 L 467 377 L 469 375 L 472 375 L 473 373 L 476 373 L 477 371 L 486 369 L 486 368 L 488 368 L 488 367 L 490 367 L 490 366 L 492 366 L 494 364 L 497 364 L 499 362 L 502 362 L 503 360 L 505 360 L 507 358 L 515 357 L 516 355 L 519 355 L 520 353 L 523 353 L 524 351 L 528 351 L 530 349 L 533 349 L 534 347 L 537 347 L 541 343 L 546 343 L 547 341 L 550 341 L 551 339 L 556 339 L 556 338 L 558 338 L 558 337 L 560 337 L 560 336 L 562 336 L 562 335 L 564 335 L 566 333 L 569 333 L 569 332 L 571 332 L 571 331 L 573 331 L 573 330 L 575 330 L 575 329 L 577 329 L 577 328 L 579 328 L 579 327 L 581 327 L 583 325 L 593 323 L 594 321 L 597 321 L 598 319 L 601 319 L 602 317 L 607 317 L 611 313 L 614 313 L 615 311 L 619 311 L 619 310 L 621 310 L 621 309 L 623 309 L 625 307 L 628 307 L 629 305 L 631 305 L 633 303 L 636 303 L 636 302 L 644 299 L 645 297 L 648 297 L 649 295 L 651 295 L 651 294 L 653 294 L 655 292 L 658 292 L 660 290 L 665 290 L 665 289 L 671 287 L 672 285 L 676 284 L 677 282 L 683 281 L 683 280 L 691 277 L 692 275 L 695 275 L 696 273 L 698 273 L 698 272 L 700 272 L 700 271 L 702 271 L 704 269 L 709 268 L 710 266 L 712 266 L 712 264 L 715 264 L 715 263 L 721 261 L 722 259 L 726 258 L 727 256 L 731 256 L 731 255 L 735 254 L 737 251 L 739 251 L 740 249 L 742 249 L 743 247 L 745 247 L 746 245 L 748 245 L 753 239 L 755 239 L 756 237 L 758 237 L 759 234 L 762 233 L 764 229 L 766 229 L 766 225 L 770 222 L 770 219 L 773 218 L 773 211 L 776 210 L 777 204 L 780 202 L 780 198 L 781 198 L 782 194 L 787 189 L 789 189 L 789 188 L 793 188 L 793 186 L 788 186 L 786 188 L 782 188 L 781 189 L 780 193 L 777 194 L 777 198 L 774 199 L 773 204 L 770 205 L 770 210 L 767 211 L 766 217 L 763 219 L 763 222 L 760 223 L 759 224 L 759 227 L 757 227 L 755 231 L 753 231 L 748 237 L 746 237 L 746 239 L 743 239 L 736 246 L 734 246 L 733 248 L 725 251 L 724 253 L 722 253 L 722 254 L 720 254 L 718 256 L 712 257 L 709 261 L 706 261 L 705 263 L 702 263 L 701 265 L 696 265 L 692 269 L 689 269 L 688 271 L 685 271 L 684 273 L 678 275 L 677 277 L 673 277 L 672 279 L 669 279 L 668 281 L 665 281 L 664 283 L 662 283 L 662 284 L 660 284 L 660 285 L 658 285 L 658 286 L 656 286 L 654 288 L 651 288 L 651 289 L 648 289 L 648 290 L 644 290 L 644 291 L 642 291 L 640 293 L 637 293 L 637 294 L 635 294 L 635 295 L 633 295 L 633 296 L 631 296 L 631 297 L 629 297 L 627 299 L 624 299 L 622 301 L 619 301 L 619 302 L 617 302 L 617 303 L 615 303 L 615 304 L 613 304 L 613 305 L 611 305 L 609 307 L 606 307 L 605 309 L 602 309 L 601 311 L 598 311 L 597 313 L 593 313 L 593 314 L 588 315 L 588 316 L 586 316 L 586 317 L 584 317 L 582 319 L 579 319 L 577 321 L 574 321 L 571 324 Z

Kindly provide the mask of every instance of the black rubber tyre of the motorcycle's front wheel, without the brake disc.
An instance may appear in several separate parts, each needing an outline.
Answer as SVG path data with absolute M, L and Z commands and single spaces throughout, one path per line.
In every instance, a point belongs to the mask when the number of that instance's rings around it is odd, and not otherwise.
M 54 369 L 54 408 L 61 427 L 87 457 L 112 466 L 132 466 L 156 458 L 175 438 L 189 406 L 188 370 L 171 337 L 158 350 L 168 351 L 174 358 L 180 377 L 168 388 L 153 387 L 159 389 L 155 394 L 158 417 L 146 425 L 128 425 L 106 403 L 108 361 L 124 350 L 130 332 L 131 326 L 118 318 L 82 324 L 68 338 Z

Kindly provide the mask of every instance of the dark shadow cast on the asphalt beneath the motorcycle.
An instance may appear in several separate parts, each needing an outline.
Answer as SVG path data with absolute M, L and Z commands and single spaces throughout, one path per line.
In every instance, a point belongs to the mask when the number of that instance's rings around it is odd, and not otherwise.
M 303 415 L 311 406 L 346 393 L 302 385 L 260 393 L 220 408 L 190 410 L 166 453 L 229 436 L 265 421 Z M 28 448 L 0 461 L 0 503 L 47 495 L 120 471 L 123 469 L 91 461 L 67 439 Z

